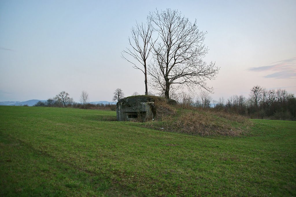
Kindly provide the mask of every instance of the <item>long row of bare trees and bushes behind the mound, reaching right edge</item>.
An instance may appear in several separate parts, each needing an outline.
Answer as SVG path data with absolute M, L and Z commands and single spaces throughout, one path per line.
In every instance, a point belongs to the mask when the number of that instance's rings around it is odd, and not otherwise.
M 296 120 L 296 98 L 285 89 L 267 90 L 261 86 L 253 86 L 249 97 L 233 95 L 225 99 L 213 100 L 208 92 L 201 91 L 192 96 L 181 93 L 177 100 L 183 106 L 194 106 L 201 109 L 213 109 L 236 113 L 250 118 Z

